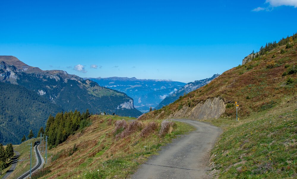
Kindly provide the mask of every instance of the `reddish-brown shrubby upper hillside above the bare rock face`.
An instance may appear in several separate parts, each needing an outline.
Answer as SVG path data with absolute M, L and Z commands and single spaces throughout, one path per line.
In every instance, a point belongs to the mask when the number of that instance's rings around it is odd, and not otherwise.
M 251 62 L 225 71 L 211 83 L 141 119 L 166 119 L 180 110 L 192 110 L 208 98 L 216 97 L 226 105 L 222 116 L 235 116 L 235 101 L 239 103 L 241 117 L 278 106 L 283 97 L 295 95 L 297 91 L 297 35 L 267 47 L 260 54 Z

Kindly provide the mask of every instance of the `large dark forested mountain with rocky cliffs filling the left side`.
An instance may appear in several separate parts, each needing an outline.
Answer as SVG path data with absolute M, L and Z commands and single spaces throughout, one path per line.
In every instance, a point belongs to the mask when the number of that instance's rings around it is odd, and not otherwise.
M 0 56 L 0 143 L 19 143 L 29 129 L 36 134 L 49 114 L 58 111 L 116 113 L 139 116 L 133 99 L 66 71 L 26 65 L 13 56 Z M 5 104 L 5 105 L 3 105 Z

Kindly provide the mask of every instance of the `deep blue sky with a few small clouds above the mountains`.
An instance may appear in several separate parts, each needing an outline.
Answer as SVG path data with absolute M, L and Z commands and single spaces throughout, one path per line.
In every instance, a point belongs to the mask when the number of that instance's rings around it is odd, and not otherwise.
M 11 0 L 0 7 L 0 55 L 81 77 L 195 81 L 297 32 L 297 0 Z

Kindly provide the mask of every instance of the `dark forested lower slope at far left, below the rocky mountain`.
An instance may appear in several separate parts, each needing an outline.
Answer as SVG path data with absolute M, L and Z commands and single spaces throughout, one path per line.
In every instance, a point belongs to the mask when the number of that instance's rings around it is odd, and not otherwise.
M 30 129 L 36 134 L 50 114 L 62 111 L 61 107 L 20 85 L 0 83 L 0 94 L 0 143 L 20 143 Z

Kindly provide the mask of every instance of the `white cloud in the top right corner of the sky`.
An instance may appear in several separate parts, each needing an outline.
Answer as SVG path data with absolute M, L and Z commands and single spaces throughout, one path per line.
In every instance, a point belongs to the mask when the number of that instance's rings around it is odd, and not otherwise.
M 257 7 L 253 9 L 254 12 L 259 11 L 272 11 L 274 7 L 279 6 L 294 6 L 297 7 L 297 0 L 266 0 L 265 4 L 268 4 L 267 7 Z

